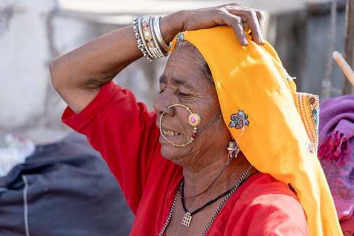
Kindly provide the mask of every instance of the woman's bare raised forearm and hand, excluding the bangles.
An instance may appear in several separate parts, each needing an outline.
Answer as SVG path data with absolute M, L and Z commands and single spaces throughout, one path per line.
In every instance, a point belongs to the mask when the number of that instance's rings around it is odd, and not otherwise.
M 163 40 L 168 44 L 181 31 L 211 28 L 216 25 L 232 26 L 236 38 L 248 45 L 242 22 L 247 22 L 252 36 L 259 45 L 264 44 L 262 11 L 246 8 L 236 3 L 181 10 L 160 19 Z M 103 84 L 130 63 L 142 57 L 137 47 L 133 26 L 112 31 L 50 64 L 51 80 L 56 91 L 75 113 L 84 109 L 97 95 Z

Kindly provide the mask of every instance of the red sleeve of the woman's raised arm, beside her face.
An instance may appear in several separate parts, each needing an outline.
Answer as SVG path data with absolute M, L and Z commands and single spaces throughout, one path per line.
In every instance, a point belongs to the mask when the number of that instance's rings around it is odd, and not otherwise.
M 163 159 L 156 113 L 111 81 L 79 114 L 67 107 L 62 121 L 101 152 L 135 214 L 146 182 Z

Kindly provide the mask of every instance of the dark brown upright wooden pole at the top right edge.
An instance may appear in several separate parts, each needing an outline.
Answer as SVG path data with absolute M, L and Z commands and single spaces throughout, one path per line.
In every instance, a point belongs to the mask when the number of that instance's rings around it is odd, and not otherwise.
M 354 68 L 354 0 L 346 0 L 346 44 L 344 46 L 344 59 Z M 343 95 L 353 93 L 351 82 L 343 77 Z

